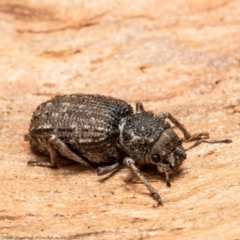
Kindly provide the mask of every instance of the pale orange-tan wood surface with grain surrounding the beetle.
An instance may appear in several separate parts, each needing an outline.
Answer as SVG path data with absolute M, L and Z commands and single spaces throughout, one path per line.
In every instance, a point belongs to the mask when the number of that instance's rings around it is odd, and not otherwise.
M 0 1 L 2 239 L 240 239 L 240 2 Z M 129 170 L 27 167 L 33 110 L 56 94 L 101 93 L 228 145 L 189 151 L 172 187 Z M 184 146 L 189 146 L 186 143 Z M 45 159 L 47 160 L 47 159 Z

